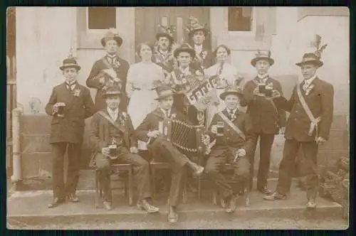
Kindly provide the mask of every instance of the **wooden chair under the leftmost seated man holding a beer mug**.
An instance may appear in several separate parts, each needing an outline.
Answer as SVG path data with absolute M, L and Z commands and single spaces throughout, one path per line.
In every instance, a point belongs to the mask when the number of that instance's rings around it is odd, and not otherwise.
M 123 172 L 123 173 L 122 173 Z M 95 208 L 100 208 L 103 206 L 103 188 L 100 186 L 99 182 L 100 170 L 95 169 Z M 110 166 L 110 176 L 119 176 L 118 181 L 124 183 L 124 194 L 127 196 L 128 190 L 128 203 L 132 205 L 133 203 L 133 177 L 132 177 L 132 165 L 128 163 L 117 163 Z M 120 188 L 112 188 L 120 189 Z

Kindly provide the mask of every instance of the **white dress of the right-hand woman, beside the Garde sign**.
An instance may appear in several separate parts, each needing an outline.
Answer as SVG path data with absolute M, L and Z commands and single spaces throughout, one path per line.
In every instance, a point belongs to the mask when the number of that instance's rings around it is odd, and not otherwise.
M 204 73 L 209 76 L 214 76 L 217 75 L 219 71 L 219 65 L 211 65 L 211 67 L 207 68 Z M 230 63 L 224 63 L 224 67 L 221 70 L 221 77 L 224 78 L 224 80 L 221 81 L 221 84 L 216 87 L 216 95 L 219 97 L 222 92 L 224 92 L 224 89 L 227 86 L 234 85 L 235 80 L 238 77 L 238 72 L 237 68 L 234 65 L 231 65 Z M 216 112 L 220 112 L 225 108 L 224 101 L 220 99 L 219 97 L 219 104 L 217 106 L 211 105 L 208 107 L 207 112 L 206 112 L 206 127 L 209 127 L 211 120 L 214 117 L 214 114 Z

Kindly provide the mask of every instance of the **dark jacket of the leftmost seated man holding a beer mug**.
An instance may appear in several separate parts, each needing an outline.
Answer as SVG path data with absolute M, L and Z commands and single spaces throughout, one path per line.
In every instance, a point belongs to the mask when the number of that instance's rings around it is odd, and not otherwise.
M 105 112 L 105 114 L 107 114 L 108 116 L 110 116 L 106 108 L 102 111 Z M 121 124 L 120 119 L 125 120 L 124 124 Z M 122 112 L 119 110 L 116 122 L 120 125 L 120 133 L 123 137 L 123 142 L 127 149 L 130 149 L 130 147 L 132 146 L 137 147 L 137 139 L 134 135 L 134 129 L 132 126 L 130 115 L 126 112 Z M 102 117 L 100 114 L 98 114 L 98 112 L 93 115 L 90 124 L 89 140 L 94 150 L 100 152 L 101 149 L 110 144 L 110 139 L 108 139 L 109 127 L 110 122 L 108 121 L 108 119 Z

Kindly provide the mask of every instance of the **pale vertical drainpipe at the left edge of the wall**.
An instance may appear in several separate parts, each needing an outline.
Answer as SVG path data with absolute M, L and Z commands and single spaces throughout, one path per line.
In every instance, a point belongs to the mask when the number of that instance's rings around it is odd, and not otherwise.
M 20 117 L 22 109 L 17 107 L 12 110 L 12 182 L 21 181 L 21 149 L 20 149 Z

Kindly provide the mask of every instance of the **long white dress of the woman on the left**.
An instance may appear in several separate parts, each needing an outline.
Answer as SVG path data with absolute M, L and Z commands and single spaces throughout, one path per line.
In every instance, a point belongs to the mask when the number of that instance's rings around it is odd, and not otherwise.
M 127 112 L 136 129 L 146 115 L 157 108 L 157 92 L 153 89 L 155 80 L 164 80 L 162 68 L 155 63 L 135 63 L 130 66 L 127 73 L 126 92 L 130 97 Z M 145 142 L 139 141 L 139 149 L 145 150 Z

